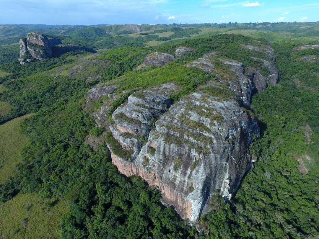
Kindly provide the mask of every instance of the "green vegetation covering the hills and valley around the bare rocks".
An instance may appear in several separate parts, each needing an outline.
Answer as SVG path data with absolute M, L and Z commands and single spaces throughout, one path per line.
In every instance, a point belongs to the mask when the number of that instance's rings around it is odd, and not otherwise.
M 205 34 L 203 27 L 209 28 Z M 0 172 L 9 172 L 0 177 L 2 238 L 319 237 L 319 64 L 302 60 L 309 55 L 319 59 L 319 49 L 295 49 L 319 45 L 319 35 L 310 30 L 302 33 L 298 25 L 291 40 L 289 34 L 278 34 L 284 27 L 265 25 L 260 31 L 254 25 L 225 25 L 226 30 L 238 30 L 234 34 L 216 34 L 219 25 L 165 25 L 138 34 L 125 28 L 114 33 L 107 27 L 79 27 L 60 35 L 62 42 L 97 52 L 72 51 L 23 65 L 17 60 L 18 45 L 0 40 L 0 132 L 4 135 Z M 255 32 L 241 34 L 247 29 Z M 166 32 L 172 33 L 157 35 Z M 17 43 L 19 38 L 12 37 Z M 180 87 L 172 96 L 176 103 L 217 79 L 214 73 L 185 68 L 185 64 L 218 51 L 221 58 L 249 66 L 254 62 L 251 57 L 262 53 L 241 44 L 256 40 L 270 42 L 280 73 L 276 86 L 252 98 L 250 110 L 261 132 L 249 150 L 258 161 L 235 196 L 226 202 L 218 195 L 212 197 L 211 211 L 196 223 L 164 206 L 161 192 L 141 177 L 120 174 L 106 141 L 95 150 L 85 143 L 89 134 L 104 134 L 92 116 L 103 99 L 89 109 L 85 106 L 88 90 L 97 83 L 119 82 L 115 93 L 122 97 L 113 102 L 109 114 L 136 89 L 162 83 Z M 154 41 L 159 45 L 148 44 Z M 148 54 L 174 54 L 180 46 L 195 51 L 165 66 L 136 70 Z M 269 72 L 261 64 L 257 67 Z M 219 70 L 223 73 L 225 67 Z M 214 94 L 222 97 L 229 92 Z M 17 147 L 12 148 L 14 144 Z

